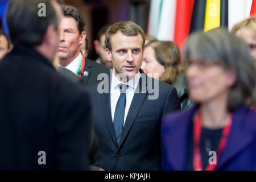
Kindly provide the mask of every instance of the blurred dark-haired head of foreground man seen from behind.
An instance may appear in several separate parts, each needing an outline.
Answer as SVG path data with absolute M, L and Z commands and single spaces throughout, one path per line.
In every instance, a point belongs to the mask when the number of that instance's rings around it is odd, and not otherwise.
M 39 14 L 39 4 L 46 9 L 46 16 Z M 63 16 L 54 0 L 13 0 L 6 11 L 10 40 L 34 47 L 52 61 L 59 46 L 59 22 Z

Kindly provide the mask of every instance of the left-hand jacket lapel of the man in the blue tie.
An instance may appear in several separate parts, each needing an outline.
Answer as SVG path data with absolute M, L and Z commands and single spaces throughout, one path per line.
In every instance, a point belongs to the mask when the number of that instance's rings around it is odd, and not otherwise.
M 112 73 L 111 73 L 112 76 Z M 111 76 L 109 78 L 109 92 L 110 92 L 110 85 L 111 85 Z M 104 116 L 105 116 L 105 122 L 106 125 L 108 126 L 110 135 L 112 136 L 112 139 L 114 140 L 115 145 L 118 147 L 117 144 L 117 138 L 115 137 L 115 129 L 112 121 L 112 114 L 111 114 L 111 104 L 110 104 L 110 93 L 102 93 L 101 95 L 101 105 L 102 109 L 104 111 Z

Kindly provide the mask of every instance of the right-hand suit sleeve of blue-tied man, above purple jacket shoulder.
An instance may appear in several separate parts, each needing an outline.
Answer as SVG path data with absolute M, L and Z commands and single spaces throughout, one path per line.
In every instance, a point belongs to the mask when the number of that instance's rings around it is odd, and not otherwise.
M 168 94 L 167 94 L 167 97 L 166 97 L 166 100 L 165 100 L 165 103 L 164 103 L 162 118 L 167 113 L 177 111 L 177 110 L 180 110 L 180 109 L 181 109 L 181 107 L 180 107 L 179 97 L 177 96 L 177 91 L 172 86 L 170 88 Z

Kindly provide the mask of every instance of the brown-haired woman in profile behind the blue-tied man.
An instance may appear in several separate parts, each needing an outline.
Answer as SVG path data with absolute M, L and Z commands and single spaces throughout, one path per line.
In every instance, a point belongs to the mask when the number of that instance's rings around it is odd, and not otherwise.
M 141 68 L 150 77 L 158 78 L 177 89 L 181 109 L 192 105 L 188 98 L 180 49 L 173 41 L 156 41 L 146 44 Z

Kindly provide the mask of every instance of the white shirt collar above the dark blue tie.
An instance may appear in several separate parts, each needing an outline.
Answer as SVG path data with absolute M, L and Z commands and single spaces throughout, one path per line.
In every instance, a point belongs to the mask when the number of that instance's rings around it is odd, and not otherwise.
M 128 88 L 132 88 L 132 89 L 135 90 L 135 89 L 137 88 L 137 85 L 138 85 L 138 82 L 139 82 L 139 78 L 140 78 L 140 77 L 141 77 L 141 73 L 138 72 L 138 73 L 137 73 L 133 78 L 131 78 L 128 82 L 123 83 L 123 82 L 119 81 L 117 77 L 115 77 L 114 69 L 113 69 L 111 85 L 112 85 L 112 88 L 115 89 L 115 88 L 118 88 L 118 85 L 119 85 L 119 84 L 126 84 L 126 85 L 129 86 Z

